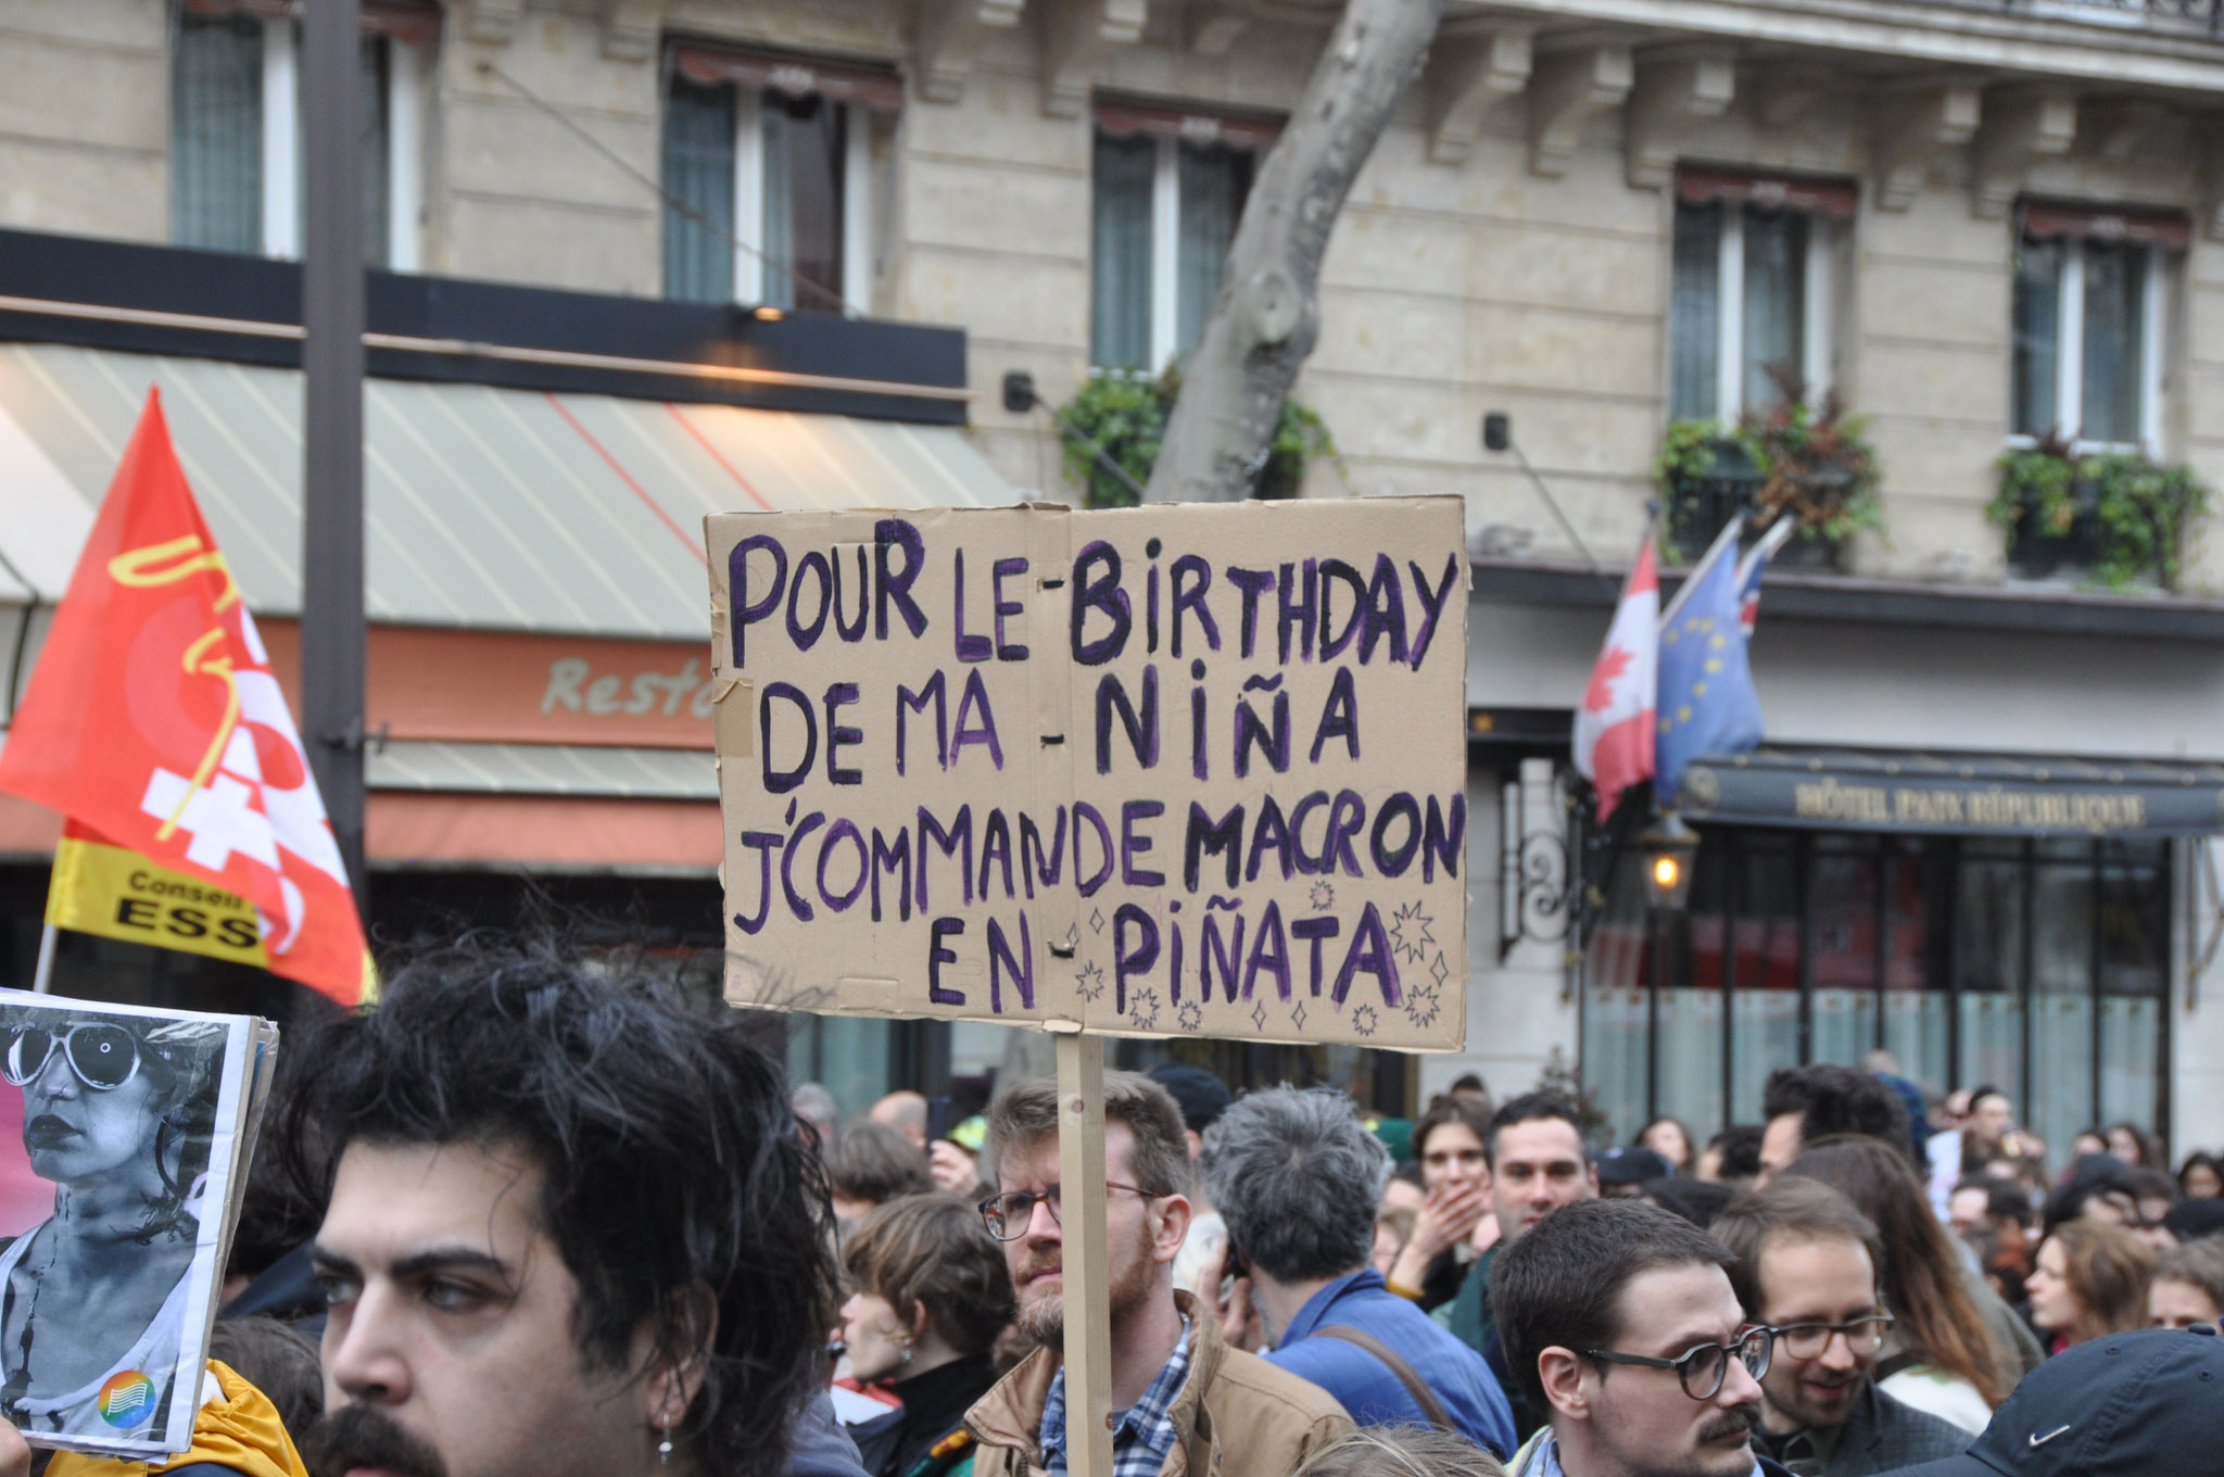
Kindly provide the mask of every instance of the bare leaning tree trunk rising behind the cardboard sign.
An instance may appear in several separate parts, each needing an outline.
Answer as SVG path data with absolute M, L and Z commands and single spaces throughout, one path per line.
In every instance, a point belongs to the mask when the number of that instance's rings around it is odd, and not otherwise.
M 1328 231 L 1406 85 L 1443 0 L 1348 0 L 1305 96 L 1268 153 L 1228 249 L 1221 296 L 1181 374 L 1145 503 L 1241 503 L 1281 403 L 1321 336 Z

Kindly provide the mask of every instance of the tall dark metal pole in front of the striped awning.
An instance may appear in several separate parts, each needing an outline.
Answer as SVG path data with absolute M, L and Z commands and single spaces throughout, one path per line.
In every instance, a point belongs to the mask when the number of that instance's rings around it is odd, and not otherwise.
M 363 7 L 302 9 L 300 320 L 307 338 L 300 721 L 331 834 L 363 876 Z

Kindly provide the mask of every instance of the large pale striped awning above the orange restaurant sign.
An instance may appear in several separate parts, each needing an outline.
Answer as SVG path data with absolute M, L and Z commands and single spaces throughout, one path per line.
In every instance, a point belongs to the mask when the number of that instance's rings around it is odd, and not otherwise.
M 298 369 L 0 345 L 0 605 L 60 601 L 149 387 L 260 616 L 300 612 Z M 365 383 L 374 623 L 709 638 L 703 514 L 1001 507 L 959 427 Z

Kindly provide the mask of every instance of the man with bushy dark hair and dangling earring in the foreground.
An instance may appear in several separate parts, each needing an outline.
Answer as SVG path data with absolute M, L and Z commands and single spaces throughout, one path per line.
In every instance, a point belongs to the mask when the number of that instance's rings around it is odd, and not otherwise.
M 783 1470 L 825 1386 L 832 1210 L 745 1017 L 456 948 L 296 1065 L 276 1143 L 327 1206 L 314 1473 Z

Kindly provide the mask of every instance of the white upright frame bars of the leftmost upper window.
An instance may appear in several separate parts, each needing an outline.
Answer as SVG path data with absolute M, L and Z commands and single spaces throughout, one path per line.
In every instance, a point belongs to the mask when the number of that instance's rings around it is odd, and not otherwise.
M 425 56 L 387 42 L 387 269 L 423 265 Z M 300 40 L 291 16 L 262 20 L 262 256 L 300 260 Z

